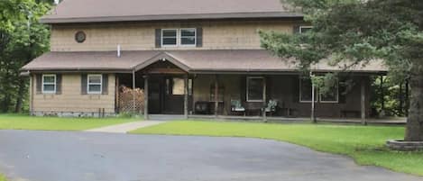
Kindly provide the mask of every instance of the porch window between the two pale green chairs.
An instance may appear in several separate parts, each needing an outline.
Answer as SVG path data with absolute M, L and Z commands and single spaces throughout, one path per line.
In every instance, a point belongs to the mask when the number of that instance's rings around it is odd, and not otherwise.
M 262 102 L 263 97 L 263 77 L 247 77 L 247 101 Z

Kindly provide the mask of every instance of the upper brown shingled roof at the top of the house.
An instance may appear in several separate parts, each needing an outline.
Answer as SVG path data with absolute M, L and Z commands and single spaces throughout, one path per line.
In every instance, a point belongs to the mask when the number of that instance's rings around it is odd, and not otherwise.
M 302 17 L 280 0 L 64 0 L 41 23 Z

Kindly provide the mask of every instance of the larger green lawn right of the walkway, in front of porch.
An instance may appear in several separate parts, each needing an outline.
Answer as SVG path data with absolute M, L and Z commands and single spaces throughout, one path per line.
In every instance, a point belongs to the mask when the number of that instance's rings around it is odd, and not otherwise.
M 423 152 L 392 151 L 384 147 L 386 140 L 403 138 L 404 128 L 398 126 L 178 121 L 132 133 L 282 140 L 319 151 L 348 155 L 361 165 L 387 167 L 423 176 Z

